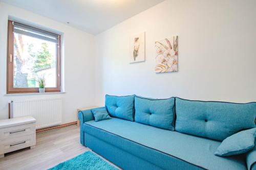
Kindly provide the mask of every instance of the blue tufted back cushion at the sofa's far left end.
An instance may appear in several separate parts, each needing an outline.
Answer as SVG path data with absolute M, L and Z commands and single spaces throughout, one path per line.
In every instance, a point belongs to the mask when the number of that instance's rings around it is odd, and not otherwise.
M 105 96 L 105 106 L 112 117 L 134 121 L 134 95 Z

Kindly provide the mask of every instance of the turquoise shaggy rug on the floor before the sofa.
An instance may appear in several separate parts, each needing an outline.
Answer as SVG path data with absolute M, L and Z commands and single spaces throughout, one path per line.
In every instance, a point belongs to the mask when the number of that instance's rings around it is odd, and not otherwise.
M 50 168 L 49 170 L 60 170 L 60 169 L 67 169 L 67 170 L 74 170 L 74 169 L 110 169 L 110 170 L 117 170 L 116 167 L 105 162 L 103 159 L 98 157 L 97 155 L 93 154 L 92 152 L 84 152 L 81 155 L 78 155 L 72 159 L 69 159 L 65 162 L 59 163 L 58 165 Z

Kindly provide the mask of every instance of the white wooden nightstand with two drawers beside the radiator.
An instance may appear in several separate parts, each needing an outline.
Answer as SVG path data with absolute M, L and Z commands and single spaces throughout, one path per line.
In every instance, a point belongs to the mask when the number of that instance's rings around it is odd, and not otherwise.
M 8 152 L 35 147 L 35 122 L 32 116 L 0 120 L 0 158 Z

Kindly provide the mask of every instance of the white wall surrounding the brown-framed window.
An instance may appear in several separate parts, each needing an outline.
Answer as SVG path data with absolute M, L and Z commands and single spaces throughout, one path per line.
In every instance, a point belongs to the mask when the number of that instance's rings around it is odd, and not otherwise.
M 8 15 L 27 20 L 35 25 L 63 33 L 62 57 L 65 60 L 63 83 L 65 94 L 6 94 L 6 57 Z M 94 36 L 60 22 L 42 17 L 14 6 L 0 3 L 0 119 L 8 118 L 11 100 L 62 98 L 62 124 L 76 120 L 76 109 L 94 105 Z

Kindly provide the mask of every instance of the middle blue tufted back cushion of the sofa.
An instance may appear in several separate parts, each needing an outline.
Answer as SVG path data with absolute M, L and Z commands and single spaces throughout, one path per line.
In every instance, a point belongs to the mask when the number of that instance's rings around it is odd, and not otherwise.
M 135 122 L 174 131 L 175 98 L 148 99 L 135 96 Z

